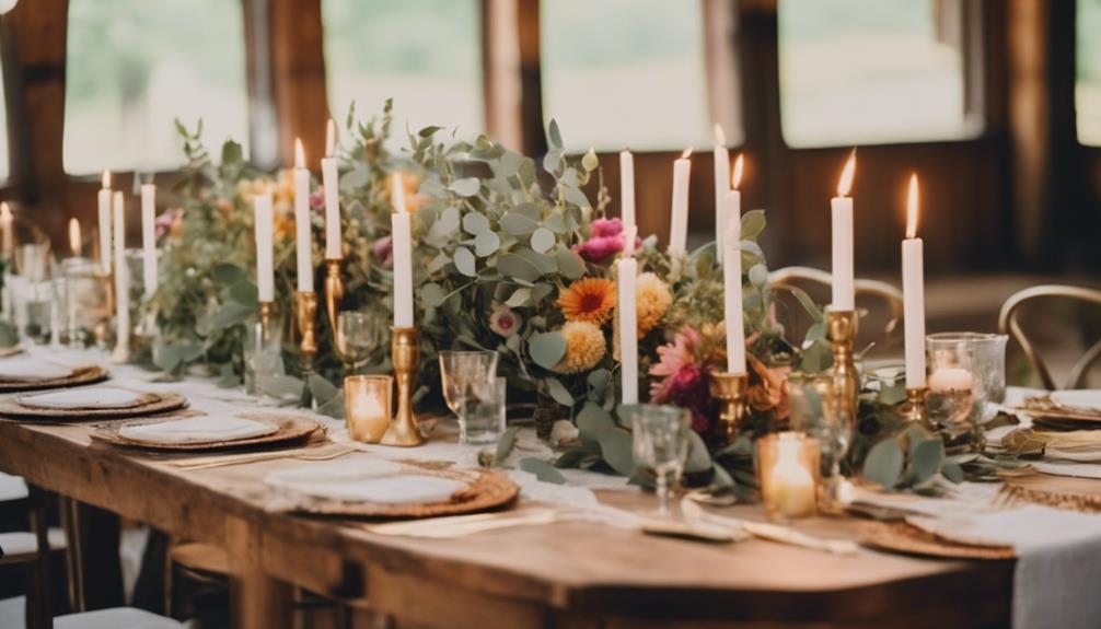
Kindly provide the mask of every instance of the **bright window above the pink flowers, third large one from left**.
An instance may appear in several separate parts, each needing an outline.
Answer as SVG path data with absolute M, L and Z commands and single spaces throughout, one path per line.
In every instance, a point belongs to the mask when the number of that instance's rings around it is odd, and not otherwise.
M 539 7 L 543 112 L 562 125 L 568 148 L 680 151 L 713 142 L 702 2 Z

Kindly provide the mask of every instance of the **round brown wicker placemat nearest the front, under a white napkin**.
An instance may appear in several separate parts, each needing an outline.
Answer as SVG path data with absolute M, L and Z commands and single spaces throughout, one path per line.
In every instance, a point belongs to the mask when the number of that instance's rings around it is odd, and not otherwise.
M 453 494 L 450 500 L 444 503 L 341 503 L 304 497 L 296 500 L 290 510 L 360 518 L 434 518 L 498 509 L 511 505 L 520 495 L 520 487 L 499 472 L 416 468 L 412 473 L 462 481 L 467 483 L 467 487 Z

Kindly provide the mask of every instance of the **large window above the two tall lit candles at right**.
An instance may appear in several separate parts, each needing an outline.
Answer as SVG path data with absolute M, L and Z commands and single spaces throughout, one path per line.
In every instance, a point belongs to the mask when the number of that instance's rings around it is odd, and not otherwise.
M 784 140 L 795 147 L 972 135 L 963 3 L 780 0 Z

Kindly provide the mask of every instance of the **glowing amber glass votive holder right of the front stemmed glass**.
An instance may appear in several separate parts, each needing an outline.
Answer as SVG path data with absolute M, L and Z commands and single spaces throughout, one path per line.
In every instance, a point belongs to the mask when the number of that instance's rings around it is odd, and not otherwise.
M 757 440 L 757 484 L 768 518 L 785 521 L 815 515 L 818 440 L 803 432 L 776 432 Z

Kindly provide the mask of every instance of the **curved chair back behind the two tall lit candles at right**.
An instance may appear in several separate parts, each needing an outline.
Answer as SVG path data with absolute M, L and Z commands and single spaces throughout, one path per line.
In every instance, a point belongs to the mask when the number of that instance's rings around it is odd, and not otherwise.
M 832 285 L 832 276 L 826 271 L 809 266 L 786 266 L 770 273 L 768 284 L 777 293 L 777 300 L 784 304 L 787 309 L 802 309 L 793 302 L 793 299 L 786 298 L 783 294 L 792 295 L 795 290 L 802 290 L 816 302 L 828 301 L 828 298 L 821 300 L 815 299 L 815 296 L 828 295 Z M 895 330 L 903 314 L 902 290 L 892 284 L 876 279 L 857 279 L 853 286 L 857 293 L 858 308 L 864 310 L 861 313 L 857 351 L 862 351 L 869 344 L 875 343 L 876 354 L 897 353 L 902 340 L 898 334 L 895 334 Z M 787 338 L 798 345 L 806 335 L 810 323 L 807 318 L 803 318 L 802 323 L 796 317 L 786 319 L 784 328 Z

